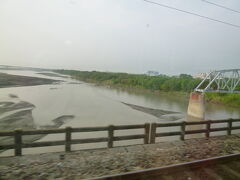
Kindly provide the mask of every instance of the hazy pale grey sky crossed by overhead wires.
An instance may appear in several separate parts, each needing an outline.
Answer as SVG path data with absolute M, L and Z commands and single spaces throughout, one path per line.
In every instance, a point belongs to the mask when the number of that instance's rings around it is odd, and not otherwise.
M 153 0 L 240 25 L 202 0 Z M 240 11 L 239 0 L 209 0 Z M 240 28 L 142 0 L 1 0 L 0 64 L 163 74 L 240 68 Z

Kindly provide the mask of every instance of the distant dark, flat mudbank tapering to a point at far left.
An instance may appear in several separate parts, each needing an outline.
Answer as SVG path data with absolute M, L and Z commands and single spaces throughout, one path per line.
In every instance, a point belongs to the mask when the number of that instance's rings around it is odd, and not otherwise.
M 0 88 L 59 83 L 58 80 L 0 73 Z

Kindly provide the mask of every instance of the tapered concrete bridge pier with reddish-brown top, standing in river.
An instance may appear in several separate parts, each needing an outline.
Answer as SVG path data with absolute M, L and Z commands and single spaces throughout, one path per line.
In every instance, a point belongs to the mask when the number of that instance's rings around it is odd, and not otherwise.
M 187 115 L 201 120 L 205 119 L 205 95 L 192 92 L 189 98 Z

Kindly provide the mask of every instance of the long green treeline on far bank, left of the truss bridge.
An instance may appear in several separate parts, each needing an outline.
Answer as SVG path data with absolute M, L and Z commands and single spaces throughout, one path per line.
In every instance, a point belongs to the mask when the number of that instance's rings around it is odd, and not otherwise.
M 56 70 L 55 72 L 70 75 L 74 79 L 113 86 L 142 88 L 153 91 L 192 91 L 200 82 L 191 75 L 147 76 L 144 74 L 111 73 L 97 71 Z

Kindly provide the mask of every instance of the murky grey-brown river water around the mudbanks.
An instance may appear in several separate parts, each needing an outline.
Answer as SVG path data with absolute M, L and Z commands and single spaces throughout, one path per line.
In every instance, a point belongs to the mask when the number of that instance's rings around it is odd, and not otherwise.
M 88 127 L 106 126 L 120 124 L 143 124 L 146 122 L 166 122 L 166 119 L 159 119 L 153 115 L 132 109 L 123 104 L 129 103 L 154 109 L 180 112 L 184 120 L 187 111 L 188 99 L 168 94 L 153 94 L 148 92 L 136 92 L 133 90 L 119 90 L 108 87 L 96 86 L 73 80 L 69 77 L 49 77 L 37 74 L 33 71 L 8 71 L 0 72 L 26 75 L 33 77 L 44 77 L 49 79 L 63 80 L 59 84 L 12 87 L 0 89 L 0 101 L 11 101 L 9 94 L 18 96 L 21 101 L 27 101 L 35 105 L 32 111 L 34 123 L 37 127 L 50 125 L 52 120 L 63 115 L 74 115 L 74 118 L 65 122 L 61 128 L 66 126 Z M 216 104 L 207 104 L 206 119 L 240 118 L 239 108 L 226 107 Z M 116 132 L 116 134 L 125 134 Z M 136 131 L 132 131 L 136 133 Z M 74 137 L 96 137 L 106 134 L 82 133 Z M 39 141 L 63 139 L 62 135 L 47 135 Z M 130 142 L 130 141 L 129 141 Z M 140 140 L 134 141 L 139 143 Z M 125 142 L 116 143 L 124 145 Z M 126 142 L 127 143 L 127 142 Z M 81 145 L 81 148 L 104 147 L 106 144 L 98 143 Z M 73 149 L 80 146 L 74 145 Z M 39 153 L 45 151 L 62 151 L 63 147 L 28 148 L 24 153 Z M 12 151 L 5 151 L 2 155 L 9 155 Z

